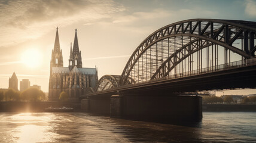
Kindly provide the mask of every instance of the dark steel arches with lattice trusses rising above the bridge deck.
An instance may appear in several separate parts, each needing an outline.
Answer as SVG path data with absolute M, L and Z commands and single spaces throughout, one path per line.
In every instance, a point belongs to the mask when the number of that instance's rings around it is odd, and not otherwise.
M 255 58 L 255 33 L 254 21 L 192 19 L 169 24 L 142 41 L 121 76 L 103 76 L 96 91 L 243 64 Z

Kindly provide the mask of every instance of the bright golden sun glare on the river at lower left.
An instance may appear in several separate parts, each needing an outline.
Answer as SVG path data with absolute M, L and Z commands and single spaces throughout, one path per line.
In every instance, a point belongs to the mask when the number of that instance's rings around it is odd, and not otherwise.
M 50 126 L 52 117 L 54 116 L 48 113 L 20 113 L 4 116 L 1 124 L 5 125 L 7 130 L 1 130 L 5 131 L 3 138 L 7 142 L 55 141 L 54 137 L 57 134 L 51 132 L 53 126 Z

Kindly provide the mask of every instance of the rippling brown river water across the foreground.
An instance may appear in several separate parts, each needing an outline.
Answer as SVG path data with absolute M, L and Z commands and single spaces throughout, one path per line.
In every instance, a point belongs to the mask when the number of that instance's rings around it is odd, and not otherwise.
M 0 113 L 0 142 L 256 142 L 256 112 L 204 112 L 202 122 L 187 125 L 87 113 Z

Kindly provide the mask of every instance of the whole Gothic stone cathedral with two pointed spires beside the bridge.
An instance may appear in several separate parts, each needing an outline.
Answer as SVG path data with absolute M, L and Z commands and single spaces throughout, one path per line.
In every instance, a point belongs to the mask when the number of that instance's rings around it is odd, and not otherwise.
M 83 68 L 81 51 L 78 46 L 77 29 L 75 29 L 75 39 L 68 60 L 69 66 L 63 67 L 62 49 L 60 49 L 58 27 L 51 51 L 50 80 L 49 80 L 49 100 L 59 100 L 62 91 L 69 95 L 69 101 L 78 101 L 80 95 L 86 94 L 97 84 L 97 69 Z

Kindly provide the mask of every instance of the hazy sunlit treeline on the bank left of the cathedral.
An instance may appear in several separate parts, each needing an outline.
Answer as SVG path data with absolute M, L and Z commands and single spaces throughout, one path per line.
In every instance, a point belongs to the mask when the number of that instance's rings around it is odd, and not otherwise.
M 42 101 L 45 100 L 45 94 L 37 88 L 28 88 L 25 91 L 16 91 L 8 89 L 0 91 L 0 101 Z

